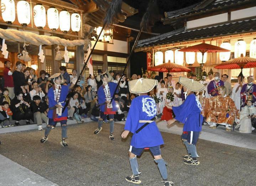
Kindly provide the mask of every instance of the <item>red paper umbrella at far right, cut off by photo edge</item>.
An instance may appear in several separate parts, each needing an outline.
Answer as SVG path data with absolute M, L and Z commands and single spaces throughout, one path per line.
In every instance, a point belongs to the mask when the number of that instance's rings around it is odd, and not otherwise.
M 254 67 L 256 67 L 256 59 L 252 58 L 252 57 L 244 57 L 244 55 L 241 54 L 241 57 L 237 57 L 232 60 L 226 61 L 224 63 L 218 64 L 214 68 L 218 68 L 218 69 L 239 69 L 239 68 L 241 68 L 241 74 L 242 74 L 243 68 L 254 68 Z M 241 81 L 243 81 L 242 78 L 243 77 L 241 76 Z

